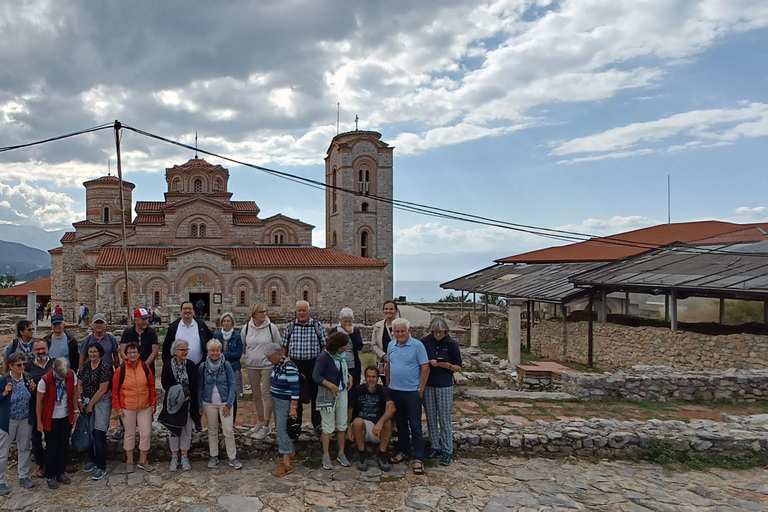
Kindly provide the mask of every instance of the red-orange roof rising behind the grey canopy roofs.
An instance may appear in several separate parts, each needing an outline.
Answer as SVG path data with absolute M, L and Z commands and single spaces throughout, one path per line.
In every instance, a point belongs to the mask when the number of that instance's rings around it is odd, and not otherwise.
M 720 221 L 680 222 L 627 231 L 585 242 L 549 247 L 496 260 L 497 263 L 562 263 L 577 261 L 613 261 L 642 254 L 673 242 L 689 243 L 722 235 L 752 224 Z

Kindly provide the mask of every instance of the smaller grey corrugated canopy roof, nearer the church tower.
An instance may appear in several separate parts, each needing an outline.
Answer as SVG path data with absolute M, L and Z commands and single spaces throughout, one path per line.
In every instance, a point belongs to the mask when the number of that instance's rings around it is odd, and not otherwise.
M 440 285 L 446 290 L 567 304 L 585 295 L 569 278 L 602 262 L 494 265 Z

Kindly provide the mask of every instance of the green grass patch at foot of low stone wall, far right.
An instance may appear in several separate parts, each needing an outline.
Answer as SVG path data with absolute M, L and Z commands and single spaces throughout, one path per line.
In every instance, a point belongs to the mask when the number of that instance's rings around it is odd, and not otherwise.
M 659 464 L 667 469 L 704 471 L 709 468 L 750 469 L 766 467 L 768 456 L 764 452 L 744 452 L 720 459 L 700 453 L 680 451 L 675 443 L 666 439 L 650 439 L 641 460 Z

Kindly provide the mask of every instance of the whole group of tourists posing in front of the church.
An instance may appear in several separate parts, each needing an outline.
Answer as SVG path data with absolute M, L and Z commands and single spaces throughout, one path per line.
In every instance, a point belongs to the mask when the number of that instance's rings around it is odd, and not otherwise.
M 330 332 L 310 316 L 306 301 L 296 304 L 295 319 L 282 334 L 266 313 L 264 304 L 254 304 L 239 332 L 234 315 L 225 313 L 221 329 L 213 333 L 196 320 L 195 306 L 185 302 L 180 318 L 168 327 L 162 353 L 157 332 L 149 326 L 152 315 L 144 308 L 133 312 L 134 323 L 119 341 L 106 332 L 101 313 L 93 316 L 92 333 L 81 343 L 64 330 L 60 314 L 52 315 L 52 332 L 42 339 L 34 339 L 31 322 L 19 322 L 16 338 L 4 351 L 5 373 L 0 377 L 0 495 L 10 492 L 6 472 L 13 443 L 19 486 L 34 485 L 32 455 L 36 476 L 45 478 L 50 488 L 69 484 L 67 473 L 75 471 L 68 458 L 70 435 L 78 422 L 92 436 L 90 461 L 82 470 L 93 480 L 104 478 L 113 415 L 120 422 L 113 437 L 123 440 L 126 471 L 153 471 L 148 454 L 158 405 L 158 358 L 163 363 L 164 398 L 157 419 L 169 431 L 171 471 L 192 469 L 188 458 L 192 434 L 202 432 L 203 416 L 208 467 L 219 464 L 219 425 L 228 465 L 243 467 L 234 433 L 237 399 L 243 394 L 243 356 L 256 414 L 252 437 L 262 440 L 270 432 L 276 434 L 280 467 L 275 475 L 292 472 L 298 460 L 294 440 L 301 433 L 304 403 L 311 403 L 310 418 L 321 436 L 325 469 L 333 469 L 330 445 L 336 433 L 336 461 L 342 466 L 350 465 L 345 455 L 349 441 L 358 449 L 358 468 L 367 470 L 365 444 L 374 443 L 375 460 L 383 471 L 413 460 L 413 472 L 424 474 L 422 407 L 431 441 L 426 458 L 450 464 L 452 374 L 461 369 L 461 353 L 444 318 L 434 318 L 430 334 L 419 341 L 411 337 L 409 322 L 398 318 L 397 305 L 388 301 L 385 318 L 375 325 L 371 339 L 377 364 L 361 368 L 363 339 L 351 309 L 341 310 Z M 393 421 L 398 447 L 388 457 Z

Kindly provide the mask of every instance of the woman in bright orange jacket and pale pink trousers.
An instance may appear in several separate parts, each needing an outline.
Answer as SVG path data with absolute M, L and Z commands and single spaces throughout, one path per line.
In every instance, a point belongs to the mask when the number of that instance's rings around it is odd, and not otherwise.
M 147 461 L 150 436 L 152 435 L 152 417 L 157 407 L 155 392 L 155 375 L 152 370 L 139 359 L 139 344 L 127 343 L 125 346 L 126 360 L 115 371 L 112 378 L 112 408 L 123 419 L 125 426 L 125 471 L 133 473 L 133 449 L 136 447 L 136 427 L 139 428 L 139 467 L 144 471 L 152 471 Z

